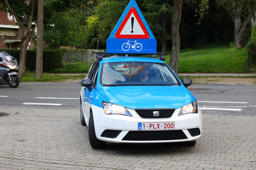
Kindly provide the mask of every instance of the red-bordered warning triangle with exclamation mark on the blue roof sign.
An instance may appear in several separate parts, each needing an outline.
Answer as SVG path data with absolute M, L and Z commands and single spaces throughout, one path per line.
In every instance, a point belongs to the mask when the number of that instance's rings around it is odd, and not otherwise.
M 135 7 L 131 7 L 118 28 L 115 38 L 148 39 L 150 36 Z

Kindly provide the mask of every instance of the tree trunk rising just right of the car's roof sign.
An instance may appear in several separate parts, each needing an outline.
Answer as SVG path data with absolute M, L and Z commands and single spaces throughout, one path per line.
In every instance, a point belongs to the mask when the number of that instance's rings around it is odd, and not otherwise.
M 181 39 L 179 38 L 179 24 L 181 23 L 183 0 L 174 0 L 172 13 L 172 53 L 169 66 L 178 75 L 179 66 L 179 48 L 181 46 Z

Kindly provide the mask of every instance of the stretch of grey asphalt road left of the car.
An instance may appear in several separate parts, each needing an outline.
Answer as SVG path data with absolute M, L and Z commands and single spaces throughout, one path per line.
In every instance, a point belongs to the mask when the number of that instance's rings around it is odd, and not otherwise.
M 80 88 L 80 83 L 28 82 L 20 83 L 15 89 L 0 85 L 0 103 L 12 106 L 24 106 L 26 103 L 32 103 L 32 106 L 61 104 L 60 107 L 79 108 Z

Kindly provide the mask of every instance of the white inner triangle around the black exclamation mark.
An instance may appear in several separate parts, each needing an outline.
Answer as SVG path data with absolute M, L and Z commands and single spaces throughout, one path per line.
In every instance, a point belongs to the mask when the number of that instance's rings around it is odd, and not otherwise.
M 133 17 L 133 27 L 132 27 L 132 17 Z M 139 22 L 137 21 L 134 13 L 127 20 L 124 28 L 122 29 L 120 35 L 145 35 Z

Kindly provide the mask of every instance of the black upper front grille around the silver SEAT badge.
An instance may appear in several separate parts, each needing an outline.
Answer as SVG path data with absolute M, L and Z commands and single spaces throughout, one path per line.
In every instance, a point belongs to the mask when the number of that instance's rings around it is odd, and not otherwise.
M 135 112 L 144 119 L 170 118 L 175 109 L 135 109 Z M 154 116 L 153 112 L 158 112 L 159 116 Z

